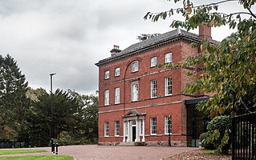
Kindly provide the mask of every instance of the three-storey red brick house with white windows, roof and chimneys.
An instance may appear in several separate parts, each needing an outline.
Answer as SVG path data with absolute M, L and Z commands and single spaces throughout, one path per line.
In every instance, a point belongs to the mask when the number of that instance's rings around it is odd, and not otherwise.
M 191 146 L 198 138 L 194 104 L 199 95 L 181 94 L 193 79 L 195 68 L 166 70 L 156 64 L 184 62 L 200 48 L 191 42 L 211 40 L 211 30 L 201 26 L 199 35 L 173 30 L 119 50 L 99 66 L 99 144 L 146 144 Z M 201 121 L 202 119 L 197 119 Z M 201 127 L 202 128 L 202 127 Z M 202 132 L 202 130 L 201 130 Z M 197 135 L 196 135 L 197 134 Z

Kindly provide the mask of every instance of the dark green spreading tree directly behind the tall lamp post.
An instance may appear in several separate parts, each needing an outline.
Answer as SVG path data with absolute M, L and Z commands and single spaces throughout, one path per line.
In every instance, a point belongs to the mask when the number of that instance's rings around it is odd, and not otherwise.
M 75 98 L 63 90 L 56 90 L 55 94 L 39 90 L 38 100 L 31 107 L 28 118 L 30 142 L 36 146 L 47 146 L 51 140 L 51 124 L 54 124 L 54 138 L 63 131 L 75 130 L 78 126 L 78 106 Z

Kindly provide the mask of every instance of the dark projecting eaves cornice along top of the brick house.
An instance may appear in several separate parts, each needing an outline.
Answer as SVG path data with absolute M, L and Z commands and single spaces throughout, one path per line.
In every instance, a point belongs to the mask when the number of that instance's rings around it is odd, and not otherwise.
M 152 44 L 150 46 L 145 46 L 144 48 L 141 48 L 141 49 L 138 49 L 138 50 L 133 50 L 132 52 L 130 52 L 128 54 L 116 55 L 116 57 L 113 57 L 113 58 L 105 58 L 105 59 L 100 60 L 99 62 L 95 63 L 95 66 L 101 66 L 101 65 L 104 65 L 105 63 L 113 62 L 113 61 L 116 61 L 120 58 L 127 58 L 127 57 L 130 57 L 130 56 L 134 55 L 134 54 L 139 54 L 143 51 L 155 48 L 156 46 L 162 46 L 162 45 L 168 44 L 170 42 L 175 42 L 175 41 L 179 41 L 179 40 L 185 40 L 185 41 L 189 41 L 189 42 L 198 42 L 198 43 L 201 42 L 201 40 L 199 38 L 191 37 L 191 36 L 188 36 L 188 35 L 185 35 L 185 34 L 178 34 L 178 35 L 173 36 L 172 38 L 169 38 L 169 39 L 167 39 L 163 42 L 157 42 L 157 43 Z

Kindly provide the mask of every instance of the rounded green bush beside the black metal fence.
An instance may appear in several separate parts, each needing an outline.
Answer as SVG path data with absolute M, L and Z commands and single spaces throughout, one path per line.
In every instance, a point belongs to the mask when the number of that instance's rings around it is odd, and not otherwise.
M 205 138 L 205 145 L 213 145 L 214 149 L 220 154 L 228 154 L 231 148 L 231 117 L 217 116 L 213 118 L 207 125 L 207 136 Z

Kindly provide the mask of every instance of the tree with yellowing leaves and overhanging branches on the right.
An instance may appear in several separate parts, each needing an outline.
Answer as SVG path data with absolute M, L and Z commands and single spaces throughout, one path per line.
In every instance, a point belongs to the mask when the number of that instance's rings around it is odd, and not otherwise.
M 174 0 L 181 2 L 181 0 Z M 222 0 L 201 6 L 194 6 L 190 0 L 184 0 L 183 7 L 161 13 L 148 12 L 145 19 L 156 22 L 159 18 L 182 14 L 184 22 L 173 20 L 172 27 L 184 27 L 187 30 L 202 24 L 207 26 L 230 26 L 237 32 L 223 39 L 220 44 L 201 41 L 202 53 L 188 58 L 184 64 L 172 64 L 171 67 L 185 67 L 204 64 L 201 78 L 189 84 L 187 93 L 200 91 L 214 93 L 205 103 L 198 106 L 213 118 L 217 114 L 229 114 L 230 110 L 255 110 L 256 102 L 256 14 L 252 10 L 254 0 Z M 218 12 L 218 6 L 226 2 L 236 2 L 244 10 L 235 13 Z M 247 15 L 249 17 L 242 18 Z M 195 46 L 195 45 L 193 45 Z M 236 106 L 234 108 L 234 106 Z

